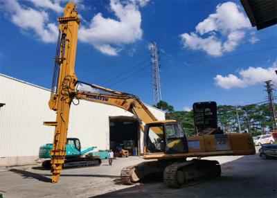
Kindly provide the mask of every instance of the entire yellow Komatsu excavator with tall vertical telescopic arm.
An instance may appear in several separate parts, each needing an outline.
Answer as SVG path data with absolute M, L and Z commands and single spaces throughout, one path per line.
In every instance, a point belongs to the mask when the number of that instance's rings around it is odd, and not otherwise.
M 121 180 L 125 184 L 139 181 L 148 174 L 159 172 L 167 186 L 179 188 L 190 179 L 220 176 L 220 164 L 217 161 L 202 160 L 205 156 L 249 155 L 255 154 L 253 140 L 249 134 L 213 134 L 186 137 L 181 123 L 176 120 L 157 120 L 138 97 L 114 91 L 95 84 L 88 84 L 102 91 L 80 91 L 80 82 L 75 75 L 75 54 L 80 20 L 75 4 L 69 2 L 64 17 L 58 18 L 59 38 L 50 109 L 57 112 L 55 122 L 44 125 L 55 126 L 53 149 L 51 150 L 52 182 L 59 180 L 66 155 L 66 136 L 69 125 L 69 109 L 74 98 L 89 100 L 106 105 L 120 107 L 132 112 L 144 132 L 143 159 L 145 161 L 121 170 Z M 202 112 L 206 114 L 205 112 Z M 208 112 L 211 114 L 211 112 Z M 197 133 L 198 134 L 198 133 Z M 199 133 L 201 134 L 201 133 Z M 197 157 L 187 161 L 187 157 Z

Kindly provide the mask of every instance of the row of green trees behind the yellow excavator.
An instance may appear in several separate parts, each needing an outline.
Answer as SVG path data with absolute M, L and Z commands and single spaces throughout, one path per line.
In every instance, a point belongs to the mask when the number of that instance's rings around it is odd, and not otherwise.
M 186 135 L 195 134 L 192 110 L 174 111 L 174 107 L 168 105 L 165 101 L 160 101 L 157 104 L 157 108 L 166 111 L 167 120 L 180 121 Z M 240 123 L 240 130 L 238 122 Z M 246 130 L 251 132 L 253 136 L 262 134 L 264 129 L 267 129 L 267 131 L 272 130 L 271 111 L 268 104 L 245 105 L 240 107 L 218 105 L 217 123 L 218 127 L 223 129 L 224 132 L 244 132 Z

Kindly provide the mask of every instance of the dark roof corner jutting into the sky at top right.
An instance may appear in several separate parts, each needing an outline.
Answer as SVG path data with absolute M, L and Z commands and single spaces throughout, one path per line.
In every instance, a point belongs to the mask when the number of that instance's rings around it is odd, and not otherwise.
M 277 24 L 276 0 L 240 0 L 253 27 L 257 30 Z

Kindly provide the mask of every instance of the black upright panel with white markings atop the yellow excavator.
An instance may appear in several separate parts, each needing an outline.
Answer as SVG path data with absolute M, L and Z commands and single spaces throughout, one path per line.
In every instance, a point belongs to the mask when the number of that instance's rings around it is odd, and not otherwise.
M 193 116 L 197 132 L 207 128 L 217 129 L 217 104 L 216 102 L 195 102 Z

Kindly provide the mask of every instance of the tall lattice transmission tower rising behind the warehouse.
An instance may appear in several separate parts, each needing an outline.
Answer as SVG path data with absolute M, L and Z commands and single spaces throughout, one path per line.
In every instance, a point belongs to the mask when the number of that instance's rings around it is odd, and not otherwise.
M 152 51 L 152 69 L 153 69 L 153 92 L 154 92 L 154 105 L 161 101 L 161 81 L 160 81 L 160 64 L 159 54 L 156 42 L 151 44 Z

